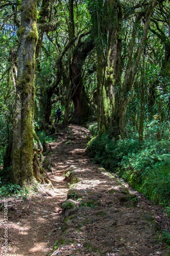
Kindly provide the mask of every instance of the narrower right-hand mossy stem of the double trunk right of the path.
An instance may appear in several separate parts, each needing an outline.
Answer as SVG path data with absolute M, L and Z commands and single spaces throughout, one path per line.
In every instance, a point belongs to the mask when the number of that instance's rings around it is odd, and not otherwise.
M 121 88 L 122 74 L 122 4 L 119 0 L 108 1 L 108 49 L 107 49 L 107 67 L 105 77 L 106 99 L 105 99 L 105 119 L 106 129 L 110 130 L 110 134 L 116 137 L 119 132 L 115 125 L 116 120 L 114 114 L 119 109 L 119 94 Z M 107 118 L 107 119 L 106 119 Z M 117 117 L 118 118 L 118 117 Z

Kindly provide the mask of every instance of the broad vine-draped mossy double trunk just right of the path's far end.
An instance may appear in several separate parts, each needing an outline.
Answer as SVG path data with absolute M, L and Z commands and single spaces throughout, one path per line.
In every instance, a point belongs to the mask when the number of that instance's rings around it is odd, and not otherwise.
M 116 88 L 120 86 L 122 6 L 119 0 L 98 1 L 91 13 L 97 51 L 99 136 L 112 127 Z M 102 17 L 102 19 L 101 19 Z M 118 104 L 118 103 L 117 103 Z

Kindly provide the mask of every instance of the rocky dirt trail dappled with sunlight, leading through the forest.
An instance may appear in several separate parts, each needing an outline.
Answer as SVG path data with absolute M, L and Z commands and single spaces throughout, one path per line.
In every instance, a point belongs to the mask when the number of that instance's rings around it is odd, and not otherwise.
M 26 200 L 8 199 L 1 255 L 170 255 L 157 232 L 168 225 L 166 219 L 162 224 L 161 208 L 93 164 L 85 153 L 89 138 L 84 127 L 69 125 L 48 144 L 44 157 L 54 189 L 44 185 Z M 63 202 L 68 209 L 62 210 Z M 76 208 L 69 209 L 70 204 Z M 5 226 L 8 253 L 3 250 Z

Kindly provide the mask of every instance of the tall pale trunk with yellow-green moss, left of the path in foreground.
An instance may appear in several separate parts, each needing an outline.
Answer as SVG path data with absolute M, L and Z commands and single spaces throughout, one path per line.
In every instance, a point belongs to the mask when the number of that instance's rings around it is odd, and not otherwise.
M 21 186 L 33 180 L 33 115 L 37 1 L 22 0 L 18 29 L 18 73 L 12 143 L 11 182 Z

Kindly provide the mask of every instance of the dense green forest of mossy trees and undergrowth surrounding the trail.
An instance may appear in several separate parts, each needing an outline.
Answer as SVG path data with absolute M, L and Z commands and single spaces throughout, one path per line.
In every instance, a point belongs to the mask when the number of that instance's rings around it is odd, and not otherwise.
M 169 1 L 6 0 L 0 15 L 1 195 L 41 182 L 42 144 L 74 123 L 96 163 L 170 212 Z

